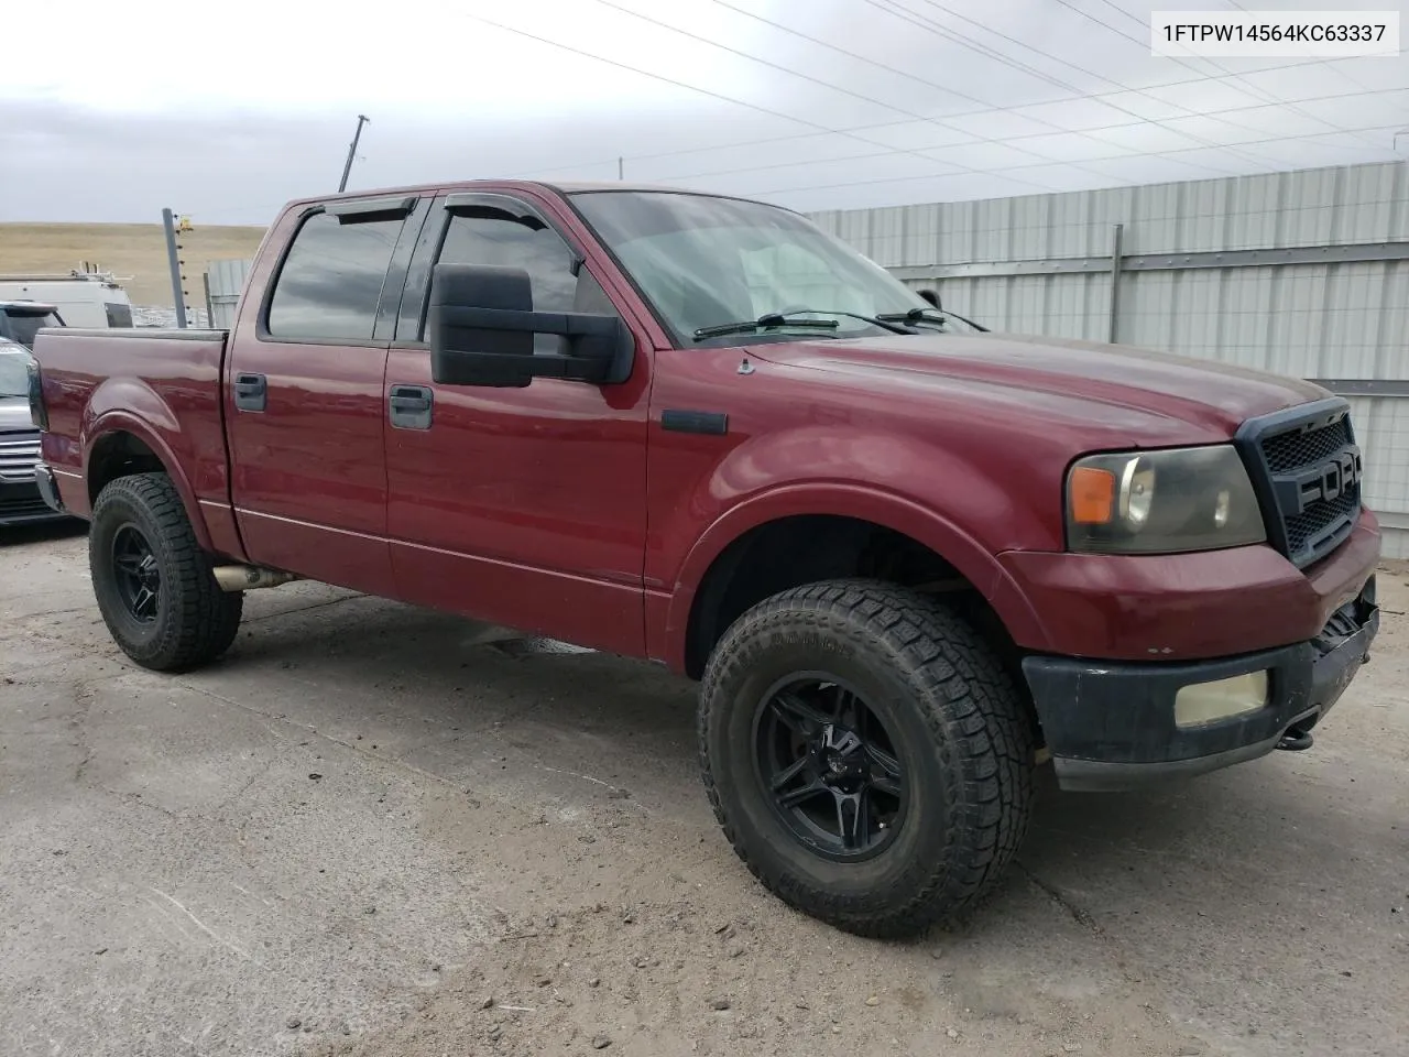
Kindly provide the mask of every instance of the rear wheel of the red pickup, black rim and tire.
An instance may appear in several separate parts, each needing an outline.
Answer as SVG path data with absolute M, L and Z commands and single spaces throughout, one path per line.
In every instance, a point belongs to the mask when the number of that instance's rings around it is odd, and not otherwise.
M 235 640 L 244 595 L 216 583 L 165 474 L 135 474 L 103 489 L 89 527 L 89 569 L 108 631 L 144 668 L 199 668 Z

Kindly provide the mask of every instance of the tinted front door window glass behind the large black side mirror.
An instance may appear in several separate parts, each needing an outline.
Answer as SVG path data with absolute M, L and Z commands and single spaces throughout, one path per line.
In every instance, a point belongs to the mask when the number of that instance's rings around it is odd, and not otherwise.
M 451 216 L 440 264 L 523 268 L 533 282 L 535 311 L 613 311 L 612 302 L 586 268 L 572 273 L 573 252 L 562 237 L 533 216 L 514 217 L 485 207 Z M 535 352 L 559 351 L 551 334 L 534 338 Z

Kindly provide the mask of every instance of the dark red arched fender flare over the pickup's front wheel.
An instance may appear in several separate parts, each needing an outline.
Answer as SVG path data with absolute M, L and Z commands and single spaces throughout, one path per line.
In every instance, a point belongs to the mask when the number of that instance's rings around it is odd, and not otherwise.
M 683 668 L 695 596 L 724 548 L 751 528 L 799 514 L 861 519 L 909 536 L 954 565 L 988 599 L 1016 640 L 1033 645 L 1047 641 L 1047 630 L 1017 582 L 986 547 L 954 521 L 882 488 L 816 481 L 779 485 L 755 493 L 730 507 L 704 530 L 681 565 L 671 592 L 662 643 L 666 664 Z

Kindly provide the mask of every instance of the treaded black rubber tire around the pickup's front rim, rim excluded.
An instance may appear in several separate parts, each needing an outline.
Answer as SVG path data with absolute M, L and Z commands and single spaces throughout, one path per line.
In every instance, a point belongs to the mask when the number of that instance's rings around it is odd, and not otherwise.
M 793 836 L 754 765 L 768 688 L 816 671 L 857 688 L 899 734 L 907 815 L 865 861 L 824 858 Z M 961 920 L 992 891 L 1027 829 L 1034 736 L 1023 691 L 975 627 L 882 582 L 761 602 L 726 631 L 700 686 L 704 788 L 738 857 L 785 902 L 862 936 Z

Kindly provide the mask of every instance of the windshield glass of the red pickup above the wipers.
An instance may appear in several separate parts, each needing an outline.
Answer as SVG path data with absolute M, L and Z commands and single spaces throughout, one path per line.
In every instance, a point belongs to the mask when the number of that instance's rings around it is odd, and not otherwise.
M 671 192 L 581 192 L 572 203 L 682 345 L 893 334 L 893 327 L 857 316 L 930 307 L 883 268 L 783 209 Z M 771 313 L 788 320 L 768 330 L 696 335 Z M 837 326 L 789 328 L 823 317 Z

